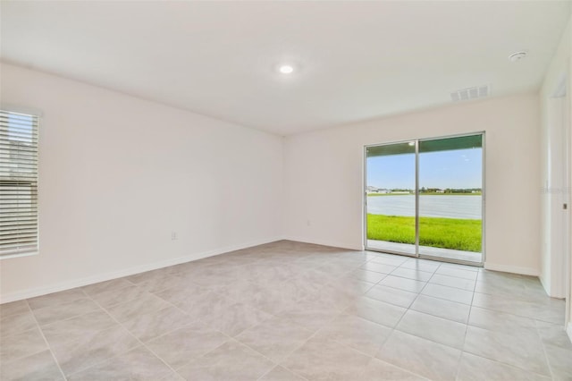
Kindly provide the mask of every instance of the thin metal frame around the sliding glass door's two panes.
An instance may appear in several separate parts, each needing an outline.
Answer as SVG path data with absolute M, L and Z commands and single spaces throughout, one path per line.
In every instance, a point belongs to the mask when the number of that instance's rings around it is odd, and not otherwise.
M 430 140 L 442 140 L 442 139 L 450 139 L 450 138 L 462 138 L 466 136 L 475 136 L 481 135 L 481 262 L 470 262 L 461 259 L 454 259 L 454 258 L 442 258 L 442 257 L 433 257 L 419 254 L 419 143 L 423 141 L 430 141 Z M 367 246 L 367 148 L 372 147 L 380 147 L 380 146 L 389 146 L 392 144 L 403 144 L 403 143 L 410 143 L 415 142 L 415 254 L 408 254 L 405 252 L 394 251 L 394 250 L 379 250 L 374 248 L 369 248 Z M 406 257 L 411 258 L 422 258 L 422 259 L 430 259 L 430 260 L 438 260 L 441 262 L 450 262 L 450 263 L 458 263 L 461 265 L 470 265 L 474 267 L 484 267 L 484 262 L 486 260 L 486 234 L 485 234 L 485 211 L 486 211 L 486 133 L 485 131 L 475 131 L 475 132 L 467 132 L 467 133 L 459 133 L 455 135 L 446 135 L 440 136 L 435 138 L 417 138 L 417 139 L 409 139 L 409 140 L 396 140 L 391 142 L 385 143 L 378 143 L 378 144 L 368 144 L 364 146 L 364 183 L 363 183 L 363 238 L 364 238 L 364 248 L 368 251 L 379 251 L 385 252 L 390 254 L 398 254 Z

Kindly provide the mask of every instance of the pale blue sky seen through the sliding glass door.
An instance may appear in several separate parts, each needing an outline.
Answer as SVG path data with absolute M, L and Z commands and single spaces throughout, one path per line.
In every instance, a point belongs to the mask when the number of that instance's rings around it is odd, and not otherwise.
M 482 148 L 419 154 L 419 188 L 481 188 Z M 367 185 L 415 189 L 415 154 L 367 158 Z

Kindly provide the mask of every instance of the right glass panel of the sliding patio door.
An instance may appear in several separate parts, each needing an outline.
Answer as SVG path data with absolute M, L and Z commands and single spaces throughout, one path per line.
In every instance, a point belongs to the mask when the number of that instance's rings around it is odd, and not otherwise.
M 483 135 L 419 140 L 421 257 L 483 262 Z

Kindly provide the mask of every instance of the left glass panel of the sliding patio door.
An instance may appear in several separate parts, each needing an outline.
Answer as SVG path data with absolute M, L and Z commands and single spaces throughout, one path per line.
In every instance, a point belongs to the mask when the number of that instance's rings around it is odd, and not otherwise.
M 366 148 L 366 249 L 416 256 L 416 142 Z

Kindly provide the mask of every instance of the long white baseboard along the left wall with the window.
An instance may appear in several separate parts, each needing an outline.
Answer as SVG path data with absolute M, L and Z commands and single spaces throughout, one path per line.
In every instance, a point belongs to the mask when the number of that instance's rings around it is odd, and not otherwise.
M 193 253 L 184 257 L 170 258 L 159 262 L 148 263 L 146 265 L 124 268 L 122 270 L 112 271 L 105 274 L 87 276 L 79 279 L 73 279 L 70 281 L 61 282 L 58 284 L 50 284 L 44 287 L 36 287 L 28 290 L 21 290 L 18 292 L 8 292 L 2 294 L 2 296 L 0 297 L 0 301 L 1 303 L 8 303 L 10 301 L 21 301 L 22 299 L 34 298 L 36 296 L 46 295 L 47 293 L 70 290 L 72 288 L 82 287 L 88 284 L 97 284 L 99 282 L 105 282 L 111 279 L 121 278 L 122 276 L 144 273 L 146 271 L 156 270 L 158 268 L 179 265 L 181 263 L 186 263 L 201 258 L 213 257 L 215 255 L 227 253 L 229 251 L 247 249 L 253 246 L 263 245 L 265 243 L 270 243 L 273 241 L 280 241 L 280 240 L 282 240 L 282 237 L 250 241 L 247 243 L 226 246 L 220 249 Z

